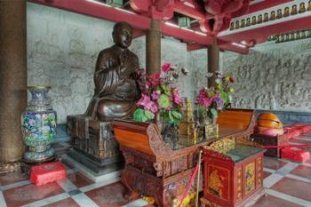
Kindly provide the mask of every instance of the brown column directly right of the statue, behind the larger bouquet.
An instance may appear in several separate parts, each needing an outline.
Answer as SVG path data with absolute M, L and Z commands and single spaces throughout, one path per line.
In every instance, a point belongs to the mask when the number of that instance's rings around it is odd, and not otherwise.
M 153 75 L 161 70 L 160 20 L 151 20 L 146 36 L 146 73 Z

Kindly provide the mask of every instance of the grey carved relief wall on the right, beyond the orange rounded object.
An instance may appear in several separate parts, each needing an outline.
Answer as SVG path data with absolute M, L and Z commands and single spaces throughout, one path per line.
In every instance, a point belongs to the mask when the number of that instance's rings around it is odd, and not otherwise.
M 311 112 L 310 39 L 224 52 L 221 61 L 237 77 L 234 107 Z

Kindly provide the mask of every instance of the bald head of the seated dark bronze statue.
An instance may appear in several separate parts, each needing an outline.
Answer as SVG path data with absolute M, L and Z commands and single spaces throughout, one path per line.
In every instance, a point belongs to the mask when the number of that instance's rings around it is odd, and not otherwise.
M 112 32 L 114 43 L 122 48 L 128 48 L 132 43 L 132 26 L 127 22 L 117 22 Z

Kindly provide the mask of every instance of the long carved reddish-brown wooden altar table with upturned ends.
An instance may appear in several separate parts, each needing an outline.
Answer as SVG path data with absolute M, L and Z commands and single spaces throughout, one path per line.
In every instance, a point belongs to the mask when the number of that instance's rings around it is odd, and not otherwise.
M 253 131 L 254 112 L 227 110 L 219 115 L 218 123 L 218 138 L 195 141 L 180 135 L 177 143 L 165 143 L 154 123 L 114 121 L 115 138 L 125 158 L 122 182 L 131 191 L 156 197 L 160 206 L 171 206 L 187 187 L 200 147 L 219 139 L 248 138 Z

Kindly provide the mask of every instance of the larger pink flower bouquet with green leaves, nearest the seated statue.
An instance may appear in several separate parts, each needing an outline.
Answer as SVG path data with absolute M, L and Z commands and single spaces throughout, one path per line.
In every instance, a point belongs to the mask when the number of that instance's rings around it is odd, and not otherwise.
M 171 74 L 173 70 L 171 64 L 165 63 L 161 73 L 146 77 L 144 72 L 138 72 L 141 98 L 137 101 L 134 120 L 146 122 L 160 113 L 164 120 L 179 125 L 183 117 L 183 103 L 179 88 L 172 86 L 172 81 L 176 79 Z

